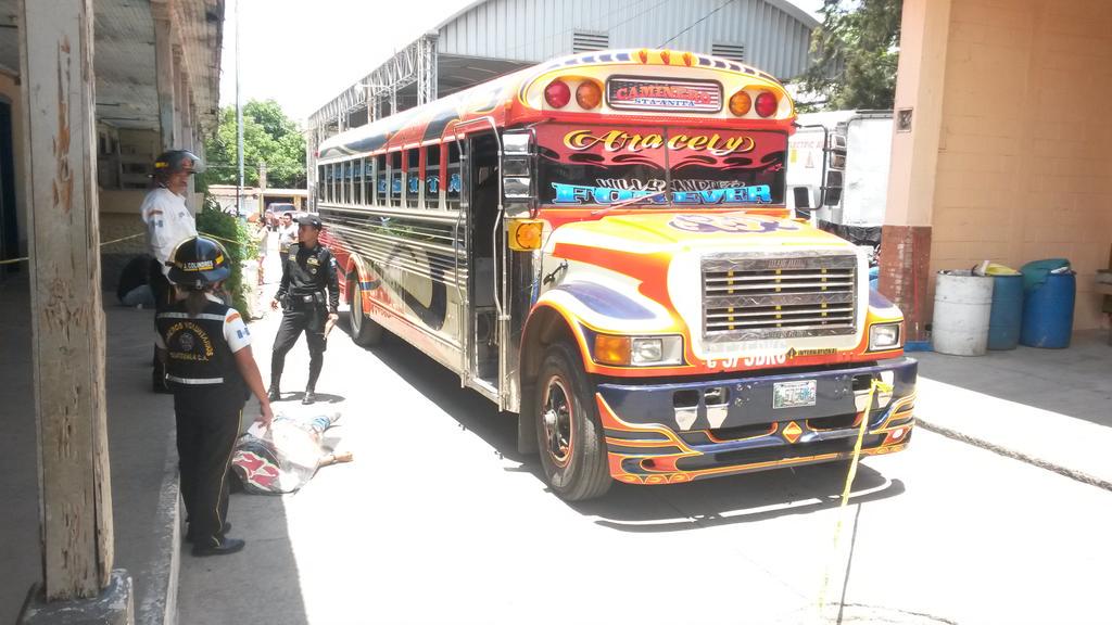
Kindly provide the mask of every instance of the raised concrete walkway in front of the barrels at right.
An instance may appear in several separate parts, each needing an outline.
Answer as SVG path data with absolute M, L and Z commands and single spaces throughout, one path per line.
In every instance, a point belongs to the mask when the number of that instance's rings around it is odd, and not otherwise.
M 986 356 L 916 353 L 926 427 L 1112 490 L 1112 345 L 1078 333 L 1069 349 Z

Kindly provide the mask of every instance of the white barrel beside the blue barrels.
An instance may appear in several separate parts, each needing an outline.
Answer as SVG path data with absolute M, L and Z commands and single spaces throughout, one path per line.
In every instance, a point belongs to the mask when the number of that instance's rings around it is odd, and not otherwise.
M 989 348 L 992 277 L 939 271 L 931 343 L 940 354 L 983 356 Z

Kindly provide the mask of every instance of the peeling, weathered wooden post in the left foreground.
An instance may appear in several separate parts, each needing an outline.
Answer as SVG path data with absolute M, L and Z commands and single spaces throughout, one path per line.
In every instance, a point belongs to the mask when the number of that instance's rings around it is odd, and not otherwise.
M 92 0 L 22 0 L 31 329 L 46 599 L 112 568 Z

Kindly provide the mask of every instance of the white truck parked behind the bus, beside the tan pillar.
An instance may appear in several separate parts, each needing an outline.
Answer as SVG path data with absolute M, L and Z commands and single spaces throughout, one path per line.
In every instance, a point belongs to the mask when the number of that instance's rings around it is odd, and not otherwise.
M 802 113 L 796 123 L 788 140 L 788 206 L 875 251 L 887 199 L 892 111 Z

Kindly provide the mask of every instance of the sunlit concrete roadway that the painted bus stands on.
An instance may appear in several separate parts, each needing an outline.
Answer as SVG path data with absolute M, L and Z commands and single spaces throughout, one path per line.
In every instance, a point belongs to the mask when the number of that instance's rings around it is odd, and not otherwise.
M 941 384 L 924 379 L 924 419 L 967 411 Z M 183 625 L 1108 622 L 1112 493 L 926 429 L 870 458 L 845 510 L 832 465 L 568 505 L 516 454 L 512 418 L 397 339 L 334 336 L 320 388 L 335 403 L 310 409 L 344 410 L 329 443 L 355 462 L 235 497 L 247 549 L 182 558 Z

